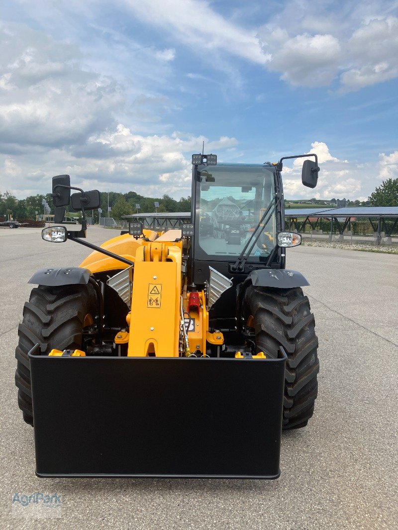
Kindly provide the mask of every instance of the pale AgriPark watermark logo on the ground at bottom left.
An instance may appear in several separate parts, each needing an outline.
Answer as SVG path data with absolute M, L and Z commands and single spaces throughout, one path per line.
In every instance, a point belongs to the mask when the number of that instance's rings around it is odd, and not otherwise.
M 11 505 L 13 517 L 41 519 L 62 516 L 62 495 L 58 493 L 14 493 Z

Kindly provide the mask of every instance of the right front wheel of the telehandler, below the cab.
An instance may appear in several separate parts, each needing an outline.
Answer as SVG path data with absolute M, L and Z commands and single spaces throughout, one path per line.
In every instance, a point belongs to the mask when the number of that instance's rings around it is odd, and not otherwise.
M 247 288 L 243 316 L 254 328 L 256 349 L 271 357 L 283 346 L 285 369 L 282 429 L 305 427 L 314 412 L 318 393 L 318 338 L 307 296 L 300 287 Z

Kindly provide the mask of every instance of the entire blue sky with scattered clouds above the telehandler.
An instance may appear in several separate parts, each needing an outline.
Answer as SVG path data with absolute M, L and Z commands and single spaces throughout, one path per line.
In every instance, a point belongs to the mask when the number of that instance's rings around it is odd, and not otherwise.
M 0 191 L 54 174 L 101 191 L 190 193 L 191 154 L 300 162 L 285 197 L 366 199 L 398 176 L 398 2 L 8 0 Z

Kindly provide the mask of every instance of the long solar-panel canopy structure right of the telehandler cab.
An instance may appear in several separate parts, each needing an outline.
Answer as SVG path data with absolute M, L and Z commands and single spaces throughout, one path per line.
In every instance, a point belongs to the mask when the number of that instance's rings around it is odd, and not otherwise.
M 333 224 L 338 227 L 342 236 L 344 230 L 351 225 L 352 218 L 367 217 L 376 236 L 376 243 L 380 244 L 382 232 L 391 237 L 398 227 L 398 206 L 369 206 L 352 208 L 293 208 L 285 210 L 289 230 L 293 227 L 297 232 L 304 232 L 306 224 L 314 230 L 322 219 L 331 220 L 330 237 L 333 233 Z M 299 218 L 301 218 L 299 220 Z M 386 218 L 394 220 L 392 225 L 385 223 Z

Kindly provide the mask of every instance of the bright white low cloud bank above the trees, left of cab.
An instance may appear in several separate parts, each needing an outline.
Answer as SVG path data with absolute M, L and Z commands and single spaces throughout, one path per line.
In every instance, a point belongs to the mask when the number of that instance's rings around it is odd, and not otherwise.
M 39 156 L 38 165 L 31 154 L 18 159 L 6 157 L 0 171 L 0 190 L 10 189 L 7 183 L 12 179 L 12 191 L 17 197 L 23 198 L 27 189 L 29 195 L 47 193 L 51 176 L 68 173 L 73 183 L 82 188 L 134 190 L 154 196 L 168 193 L 180 198 L 191 194 L 191 154 L 200 150 L 203 141 L 209 152 L 217 150 L 218 154 L 237 145 L 235 138 L 225 136 L 213 142 L 181 133 L 142 136 L 119 124 L 112 132 L 88 139 L 86 149 L 97 153 L 96 157 L 76 157 L 63 149 L 46 151 L 45 156 Z

